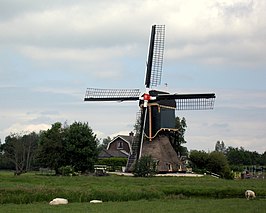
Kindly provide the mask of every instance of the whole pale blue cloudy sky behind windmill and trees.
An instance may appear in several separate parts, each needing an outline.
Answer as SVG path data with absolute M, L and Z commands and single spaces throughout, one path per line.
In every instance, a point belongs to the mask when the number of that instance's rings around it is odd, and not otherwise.
M 84 102 L 86 88 L 139 88 L 150 30 L 166 26 L 162 83 L 216 94 L 185 117 L 189 150 L 266 151 L 265 0 L 0 0 L 0 138 L 88 122 L 98 138 L 133 130 L 137 102 Z M 167 85 L 167 86 L 166 86 Z

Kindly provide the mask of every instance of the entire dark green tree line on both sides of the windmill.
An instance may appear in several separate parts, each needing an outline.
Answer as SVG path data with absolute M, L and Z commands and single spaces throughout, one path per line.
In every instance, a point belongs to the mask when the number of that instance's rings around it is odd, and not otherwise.
M 245 150 L 243 147 L 226 147 L 223 141 L 217 141 L 213 152 L 191 150 L 184 146 L 186 120 L 176 118 L 178 134 L 169 135 L 169 139 L 178 156 L 187 156 L 195 172 L 210 171 L 224 178 L 231 178 L 231 171 L 243 171 L 246 166 L 266 165 L 266 151 L 263 154 Z M 50 168 L 57 174 L 62 168 L 74 171 L 92 171 L 97 162 L 98 153 L 106 148 L 110 137 L 99 143 L 96 134 L 88 123 L 56 122 L 51 128 L 39 133 L 12 133 L 0 143 L 0 169 L 12 169 L 15 174 Z M 1 142 L 1 141 L 0 141 Z

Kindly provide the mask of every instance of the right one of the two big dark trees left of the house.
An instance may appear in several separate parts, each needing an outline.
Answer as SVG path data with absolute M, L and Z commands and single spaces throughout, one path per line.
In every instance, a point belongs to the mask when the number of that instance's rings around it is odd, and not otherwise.
M 74 122 L 66 130 L 65 158 L 76 171 L 93 170 L 98 157 L 97 138 L 87 123 Z

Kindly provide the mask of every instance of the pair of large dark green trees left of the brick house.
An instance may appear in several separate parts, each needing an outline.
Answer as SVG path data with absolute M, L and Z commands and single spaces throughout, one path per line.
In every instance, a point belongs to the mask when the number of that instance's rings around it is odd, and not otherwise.
M 82 172 L 92 170 L 97 156 L 97 138 L 87 123 L 62 126 L 57 122 L 40 135 L 40 165 L 54 169 L 57 174 L 59 168 L 65 166 Z

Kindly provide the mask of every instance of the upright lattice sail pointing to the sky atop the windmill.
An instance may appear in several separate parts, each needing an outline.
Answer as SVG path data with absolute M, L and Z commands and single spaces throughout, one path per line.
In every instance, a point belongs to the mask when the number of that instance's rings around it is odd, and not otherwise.
M 164 38 L 165 25 L 153 25 L 146 70 L 146 88 L 156 87 L 161 83 Z

